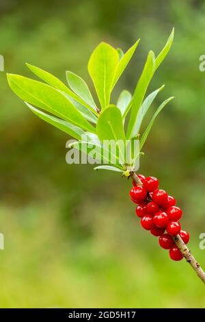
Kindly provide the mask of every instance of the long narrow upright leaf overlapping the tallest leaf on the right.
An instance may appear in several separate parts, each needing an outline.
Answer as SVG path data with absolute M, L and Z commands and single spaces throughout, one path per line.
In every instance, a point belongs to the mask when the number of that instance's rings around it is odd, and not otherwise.
M 153 73 L 154 73 L 154 53 L 153 51 L 150 51 L 148 53 L 148 58 L 146 60 L 146 64 L 143 68 L 139 81 L 137 82 L 133 99 L 129 104 L 129 106 L 132 106 L 132 110 L 131 110 L 131 116 L 128 122 L 128 128 L 126 133 L 126 138 L 128 139 L 132 138 L 137 134 L 135 130 L 135 126 L 137 123 L 137 114 L 141 106 L 141 103 L 143 101 L 143 97 L 146 94 L 148 85 L 150 84 L 150 80 L 152 79 Z M 128 108 L 126 112 L 128 111 Z

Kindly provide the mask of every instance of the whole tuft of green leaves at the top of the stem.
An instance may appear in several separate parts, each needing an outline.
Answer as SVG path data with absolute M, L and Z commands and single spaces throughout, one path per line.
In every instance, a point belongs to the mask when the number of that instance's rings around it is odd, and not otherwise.
M 148 53 L 133 95 L 128 90 L 122 90 L 115 104 L 111 102 L 111 93 L 133 57 L 139 40 L 126 53 L 106 42 L 100 42 L 94 49 L 88 62 L 88 72 L 94 83 L 98 102 L 94 101 L 85 81 L 71 71 L 66 71 L 68 82 L 66 86 L 51 73 L 27 64 L 27 67 L 43 82 L 21 75 L 8 74 L 8 83 L 14 93 L 23 99 L 27 107 L 40 119 L 77 139 L 77 142 L 73 144 L 75 148 L 82 150 L 83 147 L 90 145 L 99 147 L 101 152 L 95 156 L 96 159 L 102 160 L 103 140 L 115 140 L 118 143 L 118 140 L 126 142 L 126 140 L 135 141 L 139 138 L 139 150 L 141 151 L 156 116 L 174 98 L 169 97 L 161 103 L 141 134 L 141 123 L 144 116 L 156 95 L 164 87 L 160 86 L 146 96 L 148 86 L 156 69 L 172 47 L 173 40 L 174 29 L 157 57 L 153 51 Z M 84 141 L 81 140 L 82 134 L 85 134 L 87 138 Z M 87 149 L 87 151 L 90 150 Z M 117 152 L 120 154 L 120 147 Z M 116 158 L 117 161 L 113 163 L 111 157 L 109 151 L 107 165 L 97 166 L 95 169 L 124 172 L 133 169 L 137 159 L 137 156 L 134 156 L 133 164 L 127 162 L 122 164 L 120 158 Z

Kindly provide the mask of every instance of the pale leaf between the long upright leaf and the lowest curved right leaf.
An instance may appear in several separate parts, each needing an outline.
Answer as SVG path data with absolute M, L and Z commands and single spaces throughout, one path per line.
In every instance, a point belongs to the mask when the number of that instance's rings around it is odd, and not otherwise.
M 150 106 L 151 106 L 152 102 L 154 101 L 156 95 L 159 92 L 161 92 L 161 90 L 163 90 L 164 87 L 165 87 L 165 85 L 161 86 L 157 90 L 154 90 L 154 92 L 151 92 L 151 94 L 148 95 L 148 97 L 146 97 L 146 99 L 141 104 L 141 106 L 139 108 L 138 115 L 137 115 L 137 122 L 136 122 L 136 125 L 135 125 L 135 132 L 137 134 L 139 133 L 139 129 L 141 127 L 141 122 L 143 121 L 143 118 L 146 115 L 146 112 L 148 112 L 148 109 L 150 108 Z

